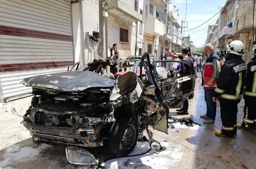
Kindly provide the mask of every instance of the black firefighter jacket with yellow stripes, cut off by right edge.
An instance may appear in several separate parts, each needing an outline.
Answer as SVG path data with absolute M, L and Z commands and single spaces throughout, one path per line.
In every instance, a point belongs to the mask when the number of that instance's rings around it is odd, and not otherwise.
M 247 64 L 244 98 L 256 101 L 256 56 Z

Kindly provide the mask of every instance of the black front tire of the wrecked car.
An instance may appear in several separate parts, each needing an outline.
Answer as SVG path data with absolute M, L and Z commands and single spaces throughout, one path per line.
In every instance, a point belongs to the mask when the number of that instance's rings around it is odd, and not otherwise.
M 131 153 L 137 144 L 139 126 L 130 116 L 116 120 L 110 128 L 109 148 L 117 156 Z

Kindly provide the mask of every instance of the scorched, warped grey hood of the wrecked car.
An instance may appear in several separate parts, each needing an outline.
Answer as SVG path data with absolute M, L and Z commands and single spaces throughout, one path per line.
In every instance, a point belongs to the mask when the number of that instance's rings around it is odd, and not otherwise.
M 72 71 L 25 78 L 21 84 L 49 90 L 78 92 L 92 87 L 111 88 L 114 87 L 115 80 L 95 72 Z

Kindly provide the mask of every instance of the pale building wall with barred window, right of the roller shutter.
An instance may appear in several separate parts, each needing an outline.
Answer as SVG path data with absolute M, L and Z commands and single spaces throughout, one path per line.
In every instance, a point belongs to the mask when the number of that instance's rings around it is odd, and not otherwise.
M 105 21 L 106 51 L 101 46 L 99 53 L 105 52 L 106 57 L 110 56 L 110 48 L 117 44 L 120 57 L 134 55 L 135 51 L 135 21 L 141 21 L 142 15 L 137 12 L 137 2 L 134 0 L 108 0 L 108 17 Z M 100 7 L 102 4 L 100 4 Z M 75 62 L 80 61 L 85 64 L 92 61 L 93 53 L 89 50 L 84 39 L 84 32 L 98 35 L 99 31 L 99 0 L 80 0 L 73 5 L 75 14 L 73 22 L 78 25 L 75 35 L 77 43 L 75 46 Z M 77 24 L 77 22 L 79 22 Z M 85 56 L 85 57 L 83 57 Z

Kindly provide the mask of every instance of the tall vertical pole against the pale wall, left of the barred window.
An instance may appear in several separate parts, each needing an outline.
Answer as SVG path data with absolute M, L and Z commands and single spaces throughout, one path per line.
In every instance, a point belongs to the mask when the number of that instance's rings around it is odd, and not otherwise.
M 102 7 L 104 0 L 99 0 L 99 38 L 101 39 L 101 44 L 100 46 L 102 47 L 100 49 L 100 56 L 102 58 L 106 58 L 108 55 L 107 53 L 107 47 L 106 47 L 106 17 L 108 17 L 107 12 L 105 9 Z M 104 15 L 104 16 L 103 16 Z

